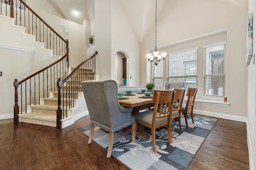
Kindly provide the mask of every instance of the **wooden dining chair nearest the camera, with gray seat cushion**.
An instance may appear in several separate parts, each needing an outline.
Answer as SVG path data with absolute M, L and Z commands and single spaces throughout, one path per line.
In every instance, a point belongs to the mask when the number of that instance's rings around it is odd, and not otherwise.
M 172 109 L 168 109 L 167 105 L 173 105 L 175 92 L 174 90 L 154 90 L 152 103 L 154 103 L 154 109 L 143 111 L 140 113 L 134 114 L 136 117 L 136 122 L 140 123 L 151 129 L 152 132 L 152 145 L 153 150 L 156 153 L 156 129 L 164 125 L 167 125 L 168 138 L 170 143 L 172 143 L 172 134 L 171 134 L 171 119 L 170 115 Z M 160 112 L 157 112 L 158 105 Z M 162 111 L 163 110 L 163 111 Z

